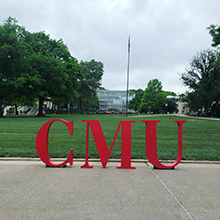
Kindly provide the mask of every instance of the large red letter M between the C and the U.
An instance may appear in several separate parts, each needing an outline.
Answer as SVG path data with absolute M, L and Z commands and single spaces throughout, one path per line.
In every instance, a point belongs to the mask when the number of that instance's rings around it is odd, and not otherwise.
M 102 132 L 102 128 L 99 120 L 83 120 L 83 122 L 87 123 L 86 124 L 87 132 L 86 132 L 86 162 L 84 165 L 81 166 L 82 168 L 92 168 L 92 166 L 89 165 L 88 163 L 89 126 L 91 128 L 103 168 L 105 168 L 107 165 L 109 156 L 111 154 L 120 127 L 121 127 L 121 166 L 117 166 L 117 168 L 118 169 L 135 168 L 131 166 L 131 123 L 135 123 L 135 121 L 120 121 L 110 150 L 108 149 L 108 146 L 106 144 L 105 137 Z

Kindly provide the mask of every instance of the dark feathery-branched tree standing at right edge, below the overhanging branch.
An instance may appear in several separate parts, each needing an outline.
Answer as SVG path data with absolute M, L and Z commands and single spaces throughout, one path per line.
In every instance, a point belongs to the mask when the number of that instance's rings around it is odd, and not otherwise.
M 190 88 L 187 99 L 191 108 L 204 108 L 205 114 L 219 90 L 219 53 L 204 50 L 194 56 L 190 67 L 181 73 L 183 83 Z

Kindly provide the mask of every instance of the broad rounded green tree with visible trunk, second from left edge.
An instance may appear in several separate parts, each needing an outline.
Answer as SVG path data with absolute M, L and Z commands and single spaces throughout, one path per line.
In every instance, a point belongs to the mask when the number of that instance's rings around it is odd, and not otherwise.
M 54 104 L 74 100 L 82 75 L 77 60 L 61 39 L 56 41 L 44 32 L 38 32 L 30 35 L 28 43 L 32 72 L 27 85 L 30 94 L 39 99 L 38 115 L 42 116 L 43 102 L 47 97 Z

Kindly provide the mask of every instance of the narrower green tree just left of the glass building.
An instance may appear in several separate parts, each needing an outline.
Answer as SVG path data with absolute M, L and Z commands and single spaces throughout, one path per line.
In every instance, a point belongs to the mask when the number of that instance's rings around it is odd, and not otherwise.
M 92 59 L 89 62 L 81 61 L 80 66 L 84 78 L 79 81 L 80 87 L 77 89 L 79 96 L 77 103 L 80 113 L 83 114 L 84 108 L 88 108 L 91 105 L 90 103 L 95 102 L 94 99 L 97 100 L 96 90 L 101 88 L 104 65 L 102 62 Z

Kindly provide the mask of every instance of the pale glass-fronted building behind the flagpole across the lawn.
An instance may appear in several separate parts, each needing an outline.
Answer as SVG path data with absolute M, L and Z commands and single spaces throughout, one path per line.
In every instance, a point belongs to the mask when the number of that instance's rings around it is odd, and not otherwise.
M 120 90 L 98 90 L 100 110 L 126 110 L 126 91 Z M 135 97 L 135 94 L 128 94 L 128 102 Z

